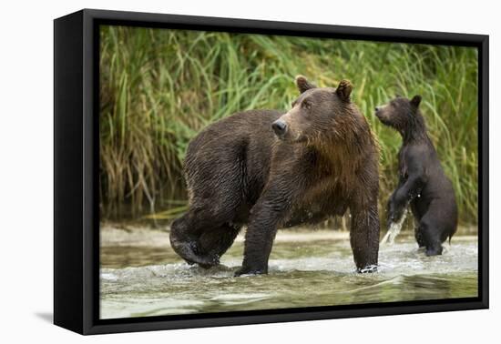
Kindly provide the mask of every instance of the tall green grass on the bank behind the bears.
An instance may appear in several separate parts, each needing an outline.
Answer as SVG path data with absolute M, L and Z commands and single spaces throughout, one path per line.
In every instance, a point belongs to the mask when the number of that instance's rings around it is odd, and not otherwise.
M 373 116 L 396 94 L 423 96 L 429 134 L 476 222 L 477 56 L 474 48 L 105 26 L 100 56 L 103 218 L 184 211 L 181 163 L 199 130 L 251 108 L 287 109 L 294 76 L 353 82 L 353 101 L 381 146 L 381 203 L 393 191 L 400 137 Z

